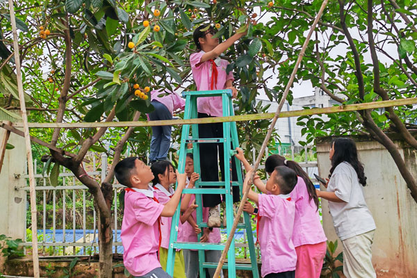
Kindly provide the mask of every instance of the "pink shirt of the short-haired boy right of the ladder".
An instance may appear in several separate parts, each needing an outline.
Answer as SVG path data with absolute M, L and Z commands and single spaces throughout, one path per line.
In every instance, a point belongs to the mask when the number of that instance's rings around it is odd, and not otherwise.
M 290 195 L 259 195 L 261 276 L 295 270 L 297 254 L 293 235 L 295 203 Z

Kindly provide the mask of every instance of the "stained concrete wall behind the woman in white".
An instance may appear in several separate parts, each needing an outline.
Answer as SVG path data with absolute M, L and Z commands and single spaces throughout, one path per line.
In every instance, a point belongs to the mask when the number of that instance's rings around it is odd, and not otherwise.
M 359 159 L 365 167 L 365 198 L 377 225 L 373 243 L 373 265 L 378 277 L 417 277 L 417 204 L 409 194 L 389 152 L 368 138 L 353 138 Z M 318 171 L 327 177 L 330 170 L 329 149 L 332 138 L 317 142 Z M 417 151 L 396 141 L 407 167 L 417 179 Z M 325 190 L 325 188 L 321 188 Z M 322 219 L 329 240 L 338 239 L 328 202 L 322 199 Z M 341 244 L 339 240 L 339 252 Z

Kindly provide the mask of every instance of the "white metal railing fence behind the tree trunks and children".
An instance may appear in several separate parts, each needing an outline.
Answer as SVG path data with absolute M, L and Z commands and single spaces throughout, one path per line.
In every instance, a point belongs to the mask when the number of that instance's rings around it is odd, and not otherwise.
M 291 156 L 294 157 L 293 147 L 291 148 Z M 266 156 L 268 149 L 265 151 Z M 170 153 L 170 158 L 174 154 Z M 83 164 L 84 169 L 87 174 L 97 179 L 97 181 L 102 181 L 106 177 L 107 170 L 107 156 L 106 154 L 101 154 L 101 161 L 97 161 L 95 156 L 92 157 L 92 162 L 90 165 Z M 252 159 L 250 161 L 255 161 L 256 151 L 252 150 Z M 42 228 L 38 229 L 38 245 L 40 246 L 40 252 L 44 256 L 66 256 L 66 255 L 86 255 L 90 253 L 96 253 L 98 250 L 97 243 L 97 216 L 94 207 L 92 209 L 87 209 L 86 202 L 92 200 L 92 196 L 88 193 L 88 188 L 83 186 L 82 183 L 74 177 L 72 172 L 67 172 L 63 168 L 63 172 L 60 172 L 58 182 L 59 186 L 51 186 L 47 175 L 42 175 L 42 173 L 37 172 L 38 162 L 34 161 L 35 169 L 35 192 L 36 196 L 42 199 L 42 211 L 38 212 L 38 219 L 42 219 Z M 311 169 L 314 169 L 317 172 L 317 162 L 316 161 L 307 161 L 307 152 L 305 156 L 305 162 L 300 163 L 306 172 L 311 172 Z M 264 166 L 260 165 L 259 169 L 263 169 Z M 312 175 L 312 174 L 310 174 Z M 27 169 L 24 170 L 24 178 L 28 179 Z M 28 184 L 28 183 L 27 183 Z M 113 252 L 122 253 L 123 247 L 121 246 L 120 240 L 120 228 L 122 226 L 121 221 L 118 219 L 118 199 L 117 191 L 120 191 L 120 188 L 124 186 L 120 184 L 113 184 Z M 28 192 L 29 187 L 25 186 L 24 188 L 17 188 L 19 190 L 26 190 Z M 57 202 L 57 195 L 60 198 Z M 28 198 L 29 199 L 29 198 Z M 80 202 L 79 207 L 77 208 L 77 203 Z M 47 202 L 50 200 L 51 204 Z M 81 206 L 81 207 L 80 207 Z M 29 205 L 26 206 L 26 215 L 28 215 Z M 38 206 L 39 208 L 39 206 Z M 57 224 L 57 213 L 60 215 Z M 72 220 L 67 222 L 67 213 L 72 215 Z M 78 220 L 77 217 L 78 216 Z M 47 221 L 49 218 L 52 218 L 51 221 Z M 89 221 L 88 221 L 89 219 Z M 39 220 L 38 220 L 39 222 Z M 51 227 L 47 226 L 47 223 L 51 222 Z M 26 221 L 25 221 L 26 225 Z M 87 226 L 90 227 L 87 227 Z M 70 226 L 70 229 L 67 228 Z M 26 226 L 25 226 L 26 228 Z M 30 231 L 25 229 L 26 231 Z M 247 238 L 246 234 L 243 233 L 243 238 L 239 235 L 236 235 L 240 240 L 237 241 L 236 247 L 243 248 L 244 257 L 247 256 Z M 26 241 L 27 240 L 27 241 Z M 24 243 L 22 245 L 29 247 L 32 245 L 31 236 L 26 235 Z

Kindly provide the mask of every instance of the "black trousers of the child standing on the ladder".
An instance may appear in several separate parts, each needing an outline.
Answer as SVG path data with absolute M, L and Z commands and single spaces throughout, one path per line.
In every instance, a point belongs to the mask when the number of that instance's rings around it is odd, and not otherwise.
M 198 113 L 198 117 L 211 117 L 204 113 Z M 198 125 L 199 138 L 223 138 L 223 123 Z M 219 161 L 220 171 L 222 172 L 222 181 L 224 181 L 224 147 L 223 143 L 201 143 L 199 144 L 200 155 L 200 178 L 202 181 L 219 181 Z M 219 159 L 220 158 L 220 159 Z M 230 165 L 227 165 L 230 171 Z M 232 181 L 238 180 L 236 164 L 231 159 L 231 178 Z M 229 185 L 227 185 L 229 186 Z M 233 202 L 240 201 L 240 192 L 238 186 L 233 186 Z M 221 196 L 217 194 L 204 194 L 203 206 L 213 207 L 222 202 Z

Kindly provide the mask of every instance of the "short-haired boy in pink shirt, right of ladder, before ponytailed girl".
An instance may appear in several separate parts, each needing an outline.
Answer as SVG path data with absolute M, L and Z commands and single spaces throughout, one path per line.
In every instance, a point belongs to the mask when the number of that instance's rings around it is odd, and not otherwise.
M 245 186 L 252 172 L 247 172 Z M 247 197 L 259 208 L 258 239 L 261 246 L 261 275 L 265 278 L 293 278 L 297 254 L 293 245 L 295 203 L 290 193 L 297 184 L 297 175 L 288 167 L 276 167 L 265 189 L 258 194 L 250 189 Z

